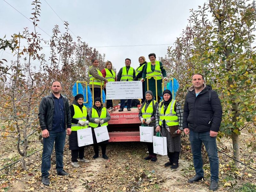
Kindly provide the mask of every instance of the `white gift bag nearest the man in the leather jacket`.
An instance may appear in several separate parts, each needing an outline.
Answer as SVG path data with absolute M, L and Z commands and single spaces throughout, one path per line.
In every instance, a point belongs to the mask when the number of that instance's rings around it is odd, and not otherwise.
M 93 144 L 91 127 L 77 130 L 77 143 L 78 147 Z

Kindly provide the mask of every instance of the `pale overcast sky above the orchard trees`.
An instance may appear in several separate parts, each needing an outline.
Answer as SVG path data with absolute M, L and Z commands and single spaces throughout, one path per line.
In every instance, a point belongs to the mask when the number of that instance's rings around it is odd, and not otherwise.
M 5 0 L 30 18 L 30 0 Z M 124 59 L 132 60 L 131 66 L 139 66 L 138 58 L 145 56 L 148 59 L 149 53 L 156 53 L 156 57 L 164 57 L 168 45 L 172 46 L 176 37 L 180 36 L 182 29 L 188 24 L 190 16 L 189 9 L 197 9 L 206 0 L 46 0 L 52 9 L 64 21 L 69 22 L 69 28 L 76 35 L 82 37 L 89 46 L 97 47 L 101 53 L 106 54 L 106 60 L 110 60 L 113 66 L 119 70 L 124 66 Z M 23 31 L 28 27 L 32 30 L 32 23 L 9 4 L 0 0 L 0 37 L 6 35 L 11 38 L 14 33 Z M 50 6 L 41 0 L 41 17 L 39 27 L 50 36 L 52 28 L 58 24 L 60 31 L 64 32 L 64 26 L 60 18 L 52 11 Z M 44 40 L 50 37 L 37 29 Z M 76 37 L 71 33 L 74 39 Z M 130 46 L 124 45 L 148 45 L 154 46 Z M 121 46 L 121 47 L 99 47 L 99 46 Z M 49 48 L 44 47 L 43 51 L 49 57 Z M 8 52 L 0 51 L 0 59 L 12 60 Z M 39 66 L 38 61 L 33 64 Z

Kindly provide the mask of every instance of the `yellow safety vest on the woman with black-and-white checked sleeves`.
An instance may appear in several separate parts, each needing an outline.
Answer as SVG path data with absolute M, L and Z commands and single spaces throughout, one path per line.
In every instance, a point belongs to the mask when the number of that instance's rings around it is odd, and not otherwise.
M 163 102 L 163 101 L 162 101 Z M 159 125 L 161 126 L 163 121 L 165 120 L 165 123 L 170 127 L 174 125 L 179 125 L 179 120 L 176 112 L 174 111 L 176 100 L 172 100 L 164 114 L 164 105 L 160 108 L 161 103 L 159 104 Z

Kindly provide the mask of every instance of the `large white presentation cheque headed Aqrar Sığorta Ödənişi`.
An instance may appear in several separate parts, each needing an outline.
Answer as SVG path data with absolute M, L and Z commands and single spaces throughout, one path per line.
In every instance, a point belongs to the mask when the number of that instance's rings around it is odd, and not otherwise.
M 141 81 L 115 81 L 106 84 L 107 99 L 141 99 Z

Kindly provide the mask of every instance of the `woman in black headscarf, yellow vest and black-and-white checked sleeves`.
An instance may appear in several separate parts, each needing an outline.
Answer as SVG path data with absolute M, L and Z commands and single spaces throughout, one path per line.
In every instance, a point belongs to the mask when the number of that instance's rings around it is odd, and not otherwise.
M 180 103 L 172 99 L 170 90 L 164 90 L 163 101 L 159 103 L 156 112 L 156 131 L 160 131 L 163 137 L 166 137 L 169 162 L 164 166 L 171 166 L 171 169 L 177 169 L 179 166 L 182 119 L 183 111 Z

